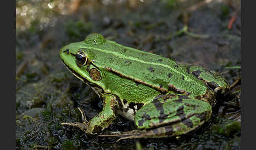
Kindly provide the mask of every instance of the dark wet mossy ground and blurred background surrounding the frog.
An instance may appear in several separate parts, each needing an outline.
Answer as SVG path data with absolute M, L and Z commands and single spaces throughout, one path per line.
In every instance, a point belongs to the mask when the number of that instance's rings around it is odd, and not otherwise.
M 187 27 L 187 30 L 184 30 Z M 88 136 L 62 122 L 102 104 L 64 67 L 61 47 L 90 33 L 219 72 L 233 96 L 199 131 L 176 138 Z M 16 1 L 16 149 L 240 149 L 241 9 L 236 0 Z M 107 131 L 135 129 L 118 116 Z

